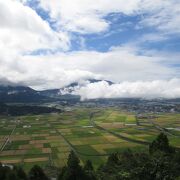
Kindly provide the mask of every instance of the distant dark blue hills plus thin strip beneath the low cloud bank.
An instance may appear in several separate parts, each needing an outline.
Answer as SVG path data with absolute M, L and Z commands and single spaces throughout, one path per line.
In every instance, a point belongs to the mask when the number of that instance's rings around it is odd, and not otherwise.
M 84 87 L 87 84 L 93 84 L 97 82 L 105 81 L 109 85 L 114 84 L 111 81 L 107 80 L 97 80 L 97 79 L 88 79 L 83 82 L 73 82 L 63 88 L 59 89 L 48 89 L 43 91 L 36 91 L 30 87 L 19 86 L 15 84 L 0 84 L 0 103 L 43 103 L 43 102 L 54 102 L 54 101 L 66 101 L 70 104 L 74 104 L 80 101 L 80 96 L 73 95 L 72 92 L 78 88 Z M 123 102 L 130 104 L 144 103 L 144 99 L 141 98 L 101 98 L 95 100 L 87 101 L 98 101 L 99 103 L 109 103 L 109 102 Z M 146 100 L 148 103 L 151 100 Z M 65 104 L 66 104 L 65 102 Z M 179 104 L 180 98 L 178 99 L 153 99 L 153 103 L 170 103 L 170 104 Z

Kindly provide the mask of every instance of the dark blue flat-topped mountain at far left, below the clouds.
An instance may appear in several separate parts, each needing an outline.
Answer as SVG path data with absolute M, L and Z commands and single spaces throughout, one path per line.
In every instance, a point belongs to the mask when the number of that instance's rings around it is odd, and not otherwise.
M 29 103 L 47 99 L 37 91 L 25 86 L 0 85 L 0 102 Z

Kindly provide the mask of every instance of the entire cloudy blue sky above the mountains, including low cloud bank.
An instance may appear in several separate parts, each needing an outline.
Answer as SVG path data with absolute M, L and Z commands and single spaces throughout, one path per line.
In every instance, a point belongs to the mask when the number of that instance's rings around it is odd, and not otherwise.
M 180 97 L 179 0 L 0 0 L 0 83 Z

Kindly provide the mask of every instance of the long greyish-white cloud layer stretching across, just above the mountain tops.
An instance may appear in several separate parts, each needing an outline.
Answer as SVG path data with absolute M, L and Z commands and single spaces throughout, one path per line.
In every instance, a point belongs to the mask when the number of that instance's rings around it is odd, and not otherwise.
M 2 55 L 1 78 L 24 82 L 38 89 L 59 88 L 89 78 L 115 82 L 147 81 L 172 78 L 177 74 L 174 68 L 165 64 L 171 55 L 142 55 L 136 48 L 128 46 L 112 48 L 106 53 L 79 51 L 44 56 L 12 56 L 10 59 Z

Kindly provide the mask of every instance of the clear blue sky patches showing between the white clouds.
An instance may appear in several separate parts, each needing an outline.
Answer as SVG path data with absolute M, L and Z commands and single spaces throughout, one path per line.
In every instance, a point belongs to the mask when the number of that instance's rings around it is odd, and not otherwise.
M 43 9 L 38 0 L 31 0 L 25 3 L 26 6 L 31 7 L 49 26 L 56 31 L 56 20 L 50 17 L 49 10 Z M 109 24 L 109 28 L 101 33 L 71 33 L 71 46 L 68 51 L 80 50 L 96 50 L 100 52 L 107 52 L 113 46 L 123 46 L 127 43 L 136 43 L 142 36 L 147 34 L 159 34 L 156 27 L 137 27 L 143 20 L 144 13 L 137 13 L 132 15 L 125 15 L 123 13 L 109 13 L 103 17 Z M 163 40 L 149 40 L 139 44 L 146 50 L 159 50 L 178 52 L 180 50 L 180 36 L 179 33 L 171 34 Z M 56 53 L 58 50 L 52 51 Z M 61 50 L 59 50 L 61 51 Z M 46 53 L 47 49 L 38 49 L 32 52 L 34 55 Z

